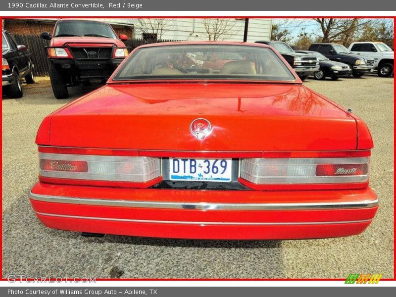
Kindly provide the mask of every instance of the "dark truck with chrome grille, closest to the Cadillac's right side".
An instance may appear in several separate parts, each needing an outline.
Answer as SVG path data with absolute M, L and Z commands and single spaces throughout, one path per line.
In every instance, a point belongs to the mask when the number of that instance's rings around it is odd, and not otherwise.
M 317 57 L 296 52 L 287 43 L 282 41 L 256 41 L 256 43 L 269 45 L 278 50 L 285 60 L 293 67 L 301 80 L 306 79 L 319 70 L 319 60 Z

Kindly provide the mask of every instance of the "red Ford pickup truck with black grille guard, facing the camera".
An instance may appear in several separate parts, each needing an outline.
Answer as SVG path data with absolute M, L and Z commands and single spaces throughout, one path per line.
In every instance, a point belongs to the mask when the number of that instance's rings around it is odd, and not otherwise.
M 57 99 L 69 96 L 68 86 L 107 80 L 129 53 L 122 42 L 128 37 L 121 34 L 117 39 L 111 26 L 100 21 L 60 19 L 52 37 L 48 32 L 41 37 L 50 40 L 49 77 Z

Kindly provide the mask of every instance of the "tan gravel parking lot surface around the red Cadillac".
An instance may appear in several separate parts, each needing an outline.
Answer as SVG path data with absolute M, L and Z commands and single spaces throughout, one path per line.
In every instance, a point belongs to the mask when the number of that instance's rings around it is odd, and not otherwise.
M 394 80 L 364 76 L 305 85 L 363 118 L 373 134 L 371 186 L 380 209 L 361 235 L 297 241 L 192 241 L 105 236 L 44 227 L 28 193 L 37 182 L 42 119 L 97 86 L 54 99 L 48 78 L 2 100 L 2 276 L 98 278 L 346 278 L 394 271 Z M 73 127 L 70 127 L 72 131 Z

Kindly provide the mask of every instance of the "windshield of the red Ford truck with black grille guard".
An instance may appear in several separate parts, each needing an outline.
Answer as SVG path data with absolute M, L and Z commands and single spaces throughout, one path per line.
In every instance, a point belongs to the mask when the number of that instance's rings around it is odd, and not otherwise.
M 60 21 L 57 22 L 54 37 L 91 36 L 117 38 L 109 24 L 94 21 Z

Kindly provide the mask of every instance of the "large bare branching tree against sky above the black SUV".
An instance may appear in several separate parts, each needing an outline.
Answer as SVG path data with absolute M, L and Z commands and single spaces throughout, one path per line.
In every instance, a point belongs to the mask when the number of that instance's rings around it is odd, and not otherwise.
M 314 18 L 319 24 L 322 35 L 315 34 L 321 38 L 321 42 L 341 42 L 347 45 L 356 37 L 358 29 L 368 24 L 367 19 L 338 19 L 338 18 Z

